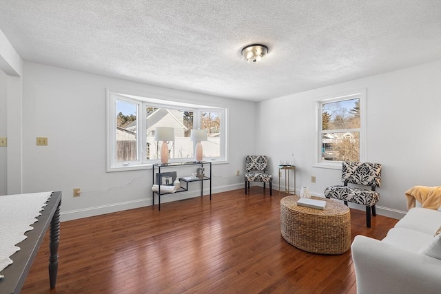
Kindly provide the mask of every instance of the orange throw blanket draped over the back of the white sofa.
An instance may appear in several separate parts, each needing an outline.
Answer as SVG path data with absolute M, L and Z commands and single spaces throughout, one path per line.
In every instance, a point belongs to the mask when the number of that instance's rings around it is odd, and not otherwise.
M 407 209 L 415 207 L 415 200 L 418 200 L 423 208 L 438 210 L 438 208 L 441 207 L 441 186 L 415 186 L 407 190 L 405 195 Z

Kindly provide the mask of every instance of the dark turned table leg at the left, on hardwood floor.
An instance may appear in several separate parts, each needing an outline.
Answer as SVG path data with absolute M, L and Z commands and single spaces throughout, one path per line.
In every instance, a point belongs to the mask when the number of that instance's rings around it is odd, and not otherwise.
M 50 221 L 49 230 L 49 282 L 51 289 L 55 288 L 55 284 L 57 284 L 58 245 L 60 240 L 60 204 L 54 213 L 54 217 Z

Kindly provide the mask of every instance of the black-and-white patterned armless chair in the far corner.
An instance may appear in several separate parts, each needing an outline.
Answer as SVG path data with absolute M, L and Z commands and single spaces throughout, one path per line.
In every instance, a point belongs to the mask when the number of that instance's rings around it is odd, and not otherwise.
M 265 155 L 248 155 L 245 158 L 245 194 L 249 190 L 249 182 L 263 182 L 263 189 L 265 183 L 269 182 L 269 195 L 273 195 L 273 176 L 267 174 L 268 156 Z

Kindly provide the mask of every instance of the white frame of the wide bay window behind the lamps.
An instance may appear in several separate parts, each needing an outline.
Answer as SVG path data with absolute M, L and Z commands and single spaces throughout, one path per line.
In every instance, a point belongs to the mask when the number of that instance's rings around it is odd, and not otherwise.
M 227 108 L 211 107 L 207 105 L 196 105 L 178 101 L 169 101 L 163 98 L 148 98 L 144 94 L 127 94 L 128 91 L 106 90 L 106 112 L 107 112 L 107 172 L 127 171 L 135 169 L 150 169 L 153 164 L 160 163 L 160 159 L 147 160 L 145 158 L 145 145 L 147 138 L 145 134 L 146 106 L 154 106 L 168 109 L 189 110 L 194 112 L 193 127 L 197 129 L 201 125 L 201 112 L 218 112 L 220 116 L 220 156 L 216 158 L 203 158 L 211 162 L 227 162 Z M 116 101 L 134 103 L 138 107 L 138 117 L 136 118 L 137 151 L 138 159 L 117 162 L 116 161 Z M 196 142 L 193 148 L 196 147 Z M 191 159 L 190 159 L 191 160 Z M 194 160 L 194 159 L 193 159 Z M 173 158 L 169 162 L 185 162 L 189 158 Z

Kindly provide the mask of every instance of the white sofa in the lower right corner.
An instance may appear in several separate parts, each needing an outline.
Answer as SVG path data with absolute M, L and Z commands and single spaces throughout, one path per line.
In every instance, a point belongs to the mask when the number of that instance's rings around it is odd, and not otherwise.
M 441 293 L 441 211 L 412 208 L 376 240 L 354 238 L 357 293 Z

